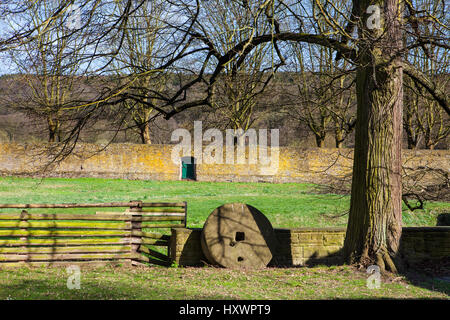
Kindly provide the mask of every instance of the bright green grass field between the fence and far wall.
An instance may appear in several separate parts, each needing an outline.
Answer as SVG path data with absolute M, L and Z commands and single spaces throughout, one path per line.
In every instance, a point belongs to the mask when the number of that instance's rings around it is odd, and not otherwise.
M 0 203 L 187 201 L 189 227 L 202 227 L 216 207 L 229 202 L 253 205 L 274 227 L 345 227 L 349 199 L 349 196 L 320 194 L 312 184 L 297 183 L 0 178 Z M 450 204 L 428 202 L 425 210 L 410 212 L 406 207 L 404 209 L 404 226 L 434 226 L 436 216 L 450 211 Z M 1 211 L 10 212 L 11 209 Z M 66 213 L 95 211 L 99 210 L 64 210 Z M 51 210 L 46 209 L 46 212 Z

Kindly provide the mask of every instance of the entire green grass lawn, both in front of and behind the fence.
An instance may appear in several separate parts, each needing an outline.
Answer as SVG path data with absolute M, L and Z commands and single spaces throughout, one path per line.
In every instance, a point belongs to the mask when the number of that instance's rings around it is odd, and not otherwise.
M 0 203 L 187 201 L 188 226 L 202 227 L 216 207 L 244 202 L 260 209 L 274 227 L 345 227 L 349 197 L 320 194 L 312 184 L 159 182 L 113 179 L 0 178 Z M 405 226 L 434 226 L 448 203 L 403 212 Z M 61 209 L 39 209 L 61 212 Z M 19 210 L 20 211 L 20 210 Z M 94 213 L 98 209 L 67 209 Z M 11 212 L 1 210 L 1 212 Z M 34 210 L 32 212 L 38 212 Z M 82 267 L 81 289 L 69 290 L 65 268 L 0 270 L 1 299 L 448 299 L 450 283 L 385 277 L 379 289 L 351 266 L 269 268 Z

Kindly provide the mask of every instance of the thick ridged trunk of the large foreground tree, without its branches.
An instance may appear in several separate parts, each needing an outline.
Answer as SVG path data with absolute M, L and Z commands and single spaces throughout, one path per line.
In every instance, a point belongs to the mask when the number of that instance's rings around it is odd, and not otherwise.
M 361 2 L 360 12 L 365 12 L 370 3 Z M 396 272 L 402 230 L 403 71 L 400 59 L 390 58 L 401 48 L 400 7 L 399 0 L 378 1 L 383 2 L 382 30 L 364 29 L 364 23 L 359 30 L 356 141 L 344 254 L 349 263 L 376 263 Z

